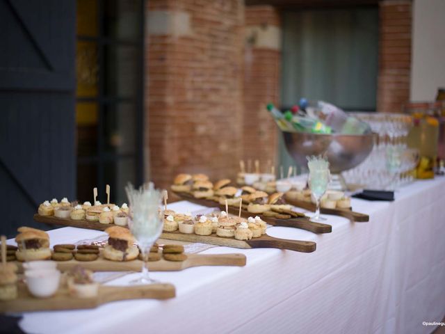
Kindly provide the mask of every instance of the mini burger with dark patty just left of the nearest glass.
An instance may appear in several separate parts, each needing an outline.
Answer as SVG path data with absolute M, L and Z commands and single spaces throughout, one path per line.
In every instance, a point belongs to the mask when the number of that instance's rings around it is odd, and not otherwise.
M 135 246 L 134 238 L 127 228 L 113 226 L 107 228 L 108 244 L 104 248 L 104 257 L 111 261 L 130 261 L 139 255 L 139 249 Z

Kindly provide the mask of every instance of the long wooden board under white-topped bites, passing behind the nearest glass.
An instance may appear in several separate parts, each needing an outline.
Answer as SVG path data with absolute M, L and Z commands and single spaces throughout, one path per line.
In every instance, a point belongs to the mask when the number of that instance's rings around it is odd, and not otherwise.
M 97 221 L 74 221 L 72 219 L 57 218 L 54 216 L 40 216 L 34 215 L 34 220 L 39 223 L 47 223 L 51 225 L 65 225 L 72 226 L 74 228 L 88 228 L 90 230 L 105 230 L 114 224 L 101 224 Z M 270 237 L 268 235 L 262 235 L 259 238 L 254 238 L 248 241 L 236 240 L 234 238 L 218 237 L 216 234 L 211 235 L 197 235 L 197 234 L 185 234 L 179 231 L 175 232 L 163 232 L 161 234 L 162 239 L 187 241 L 187 242 L 202 242 L 203 244 L 211 244 L 218 246 L 228 246 L 235 248 L 280 248 L 295 250 L 302 253 L 312 253 L 316 249 L 316 243 L 314 241 L 300 241 L 289 239 L 278 239 Z

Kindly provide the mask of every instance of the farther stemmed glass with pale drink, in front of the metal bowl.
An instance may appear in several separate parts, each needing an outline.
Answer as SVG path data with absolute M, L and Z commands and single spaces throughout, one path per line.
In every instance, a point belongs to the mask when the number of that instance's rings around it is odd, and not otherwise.
M 315 215 L 311 217 L 311 221 L 320 223 L 326 218 L 320 216 L 320 200 L 325 194 L 327 184 L 330 182 L 329 162 L 323 157 L 307 157 L 309 168 L 309 189 L 311 189 L 312 196 L 316 200 Z

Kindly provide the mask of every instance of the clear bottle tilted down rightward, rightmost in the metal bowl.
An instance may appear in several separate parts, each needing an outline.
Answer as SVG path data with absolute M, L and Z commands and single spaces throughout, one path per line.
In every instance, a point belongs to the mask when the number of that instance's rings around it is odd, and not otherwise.
M 304 109 L 310 118 L 316 118 L 330 127 L 332 132 L 339 134 L 367 134 L 371 127 L 366 122 L 349 116 L 333 104 L 324 101 L 300 100 L 300 108 Z

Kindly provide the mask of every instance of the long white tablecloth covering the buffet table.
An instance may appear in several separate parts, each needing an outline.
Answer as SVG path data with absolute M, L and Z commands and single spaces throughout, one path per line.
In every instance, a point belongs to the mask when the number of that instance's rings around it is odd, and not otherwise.
M 175 285 L 175 299 L 25 313 L 21 326 L 64 334 L 430 333 L 434 328 L 422 321 L 445 315 L 444 189 L 439 178 L 405 186 L 395 202 L 353 199 L 369 223 L 328 216 L 330 234 L 268 228 L 274 237 L 316 241 L 314 253 L 216 247 L 204 253 L 244 253 L 247 265 L 152 273 Z M 51 244 L 60 244 L 103 232 L 60 228 L 49 234 Z

